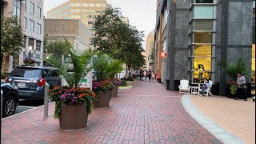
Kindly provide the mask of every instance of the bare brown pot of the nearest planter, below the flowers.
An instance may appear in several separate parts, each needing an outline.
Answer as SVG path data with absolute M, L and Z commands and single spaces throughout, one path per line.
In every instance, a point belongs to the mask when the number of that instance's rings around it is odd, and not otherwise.
M 59 125 L 61 130 L 82 130 L 87 126 L 87 104 L 66 104 L 62 102 Z

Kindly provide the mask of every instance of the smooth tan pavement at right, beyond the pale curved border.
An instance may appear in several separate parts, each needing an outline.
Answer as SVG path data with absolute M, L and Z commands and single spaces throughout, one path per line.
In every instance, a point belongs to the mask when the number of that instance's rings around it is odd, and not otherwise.
M 255 102 L 221 96 L 191 98 L 194 106 L 219 126 L 248 144 L 255 143 Z

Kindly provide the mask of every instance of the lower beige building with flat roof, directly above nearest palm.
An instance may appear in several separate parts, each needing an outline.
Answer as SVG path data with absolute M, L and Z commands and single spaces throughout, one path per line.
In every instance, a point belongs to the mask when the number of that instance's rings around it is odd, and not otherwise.
M 75 50 L 82 53 L 92 48 L 89 28 L 78 19 L 44 19 L 45 39 L 64 42 L 66 38 Z

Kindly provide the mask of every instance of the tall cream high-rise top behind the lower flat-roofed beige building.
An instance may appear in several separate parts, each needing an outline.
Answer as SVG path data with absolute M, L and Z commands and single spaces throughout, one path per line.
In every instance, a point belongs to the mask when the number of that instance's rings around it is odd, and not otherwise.
M 47 18 L 80 19 L 91 29 L 95 18 L 109 7 L 106 0 L 70 0 L 47 11 Z

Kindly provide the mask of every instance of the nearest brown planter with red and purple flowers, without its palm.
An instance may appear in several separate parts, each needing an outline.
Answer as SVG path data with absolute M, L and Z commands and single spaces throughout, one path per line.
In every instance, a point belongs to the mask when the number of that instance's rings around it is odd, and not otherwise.
M 59 118 L 62 130 L 86 128 L 88 114 L 93 110 L 96 94 L 87 88 L 54 86 L 49 91 L 50 101 L 55 102 L 54 118 Z

